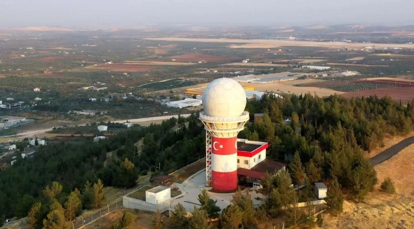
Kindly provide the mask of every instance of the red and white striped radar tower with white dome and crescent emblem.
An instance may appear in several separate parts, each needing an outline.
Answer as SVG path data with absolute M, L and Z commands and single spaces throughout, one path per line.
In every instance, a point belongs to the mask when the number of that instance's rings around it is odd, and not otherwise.
M 216 191 L 237 189 L 237 134 L 249 119 L 245 106 L 245 90 L 233 79 L 216 79 L 204 90 L 206 180 Z

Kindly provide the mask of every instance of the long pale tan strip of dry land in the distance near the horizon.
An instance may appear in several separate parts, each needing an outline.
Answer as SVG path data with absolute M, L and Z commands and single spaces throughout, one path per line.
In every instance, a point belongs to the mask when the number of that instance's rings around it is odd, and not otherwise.
M 149 40 L 186 41 L 186 42 L 209 42 L 209 43 L 244 43 L 230 45 L 230 48 L 275 48 L 282 46 L 301 47 L 325 47 L 325 48 L 363 48 L 369 46 L 365 43 L 346 42 L 316 42 L 298 40 L 266 40 L 266 39 L 228 39 L 228 38 L 147 38 Z M 376 48 L 414 48 L 414 44 L 375 44 Z

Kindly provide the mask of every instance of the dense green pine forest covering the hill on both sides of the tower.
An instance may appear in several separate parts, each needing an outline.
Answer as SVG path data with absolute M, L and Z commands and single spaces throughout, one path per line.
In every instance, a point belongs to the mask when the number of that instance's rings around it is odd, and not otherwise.
M 365 154 L 381 146 L 385 136 L 413 130 L 413 104 L 404 107 L 387 97 L 347 99 L 337 95 L 326 98 L 264 95 L 261 100 L 247 102 L 246 110 L 252 118 L 239 138 L 269 142 L 268 158 L 283 160 L 285 155 L 294 158 L 288 173 L 278 177 L 267 175 L 268 180 L 263 181 L 263 192 L 269 197 L 262 209 L 266 216 L 276 217 L 284 211 L 294 214 L 296 220 L 295 210 L 285 210 L 292 203 L 306 199 L 307 192 L 293 195 L 290 184 L 287 186 L 291 181 L 307 186 L 318 181 L 335 181 L 335 187 L 340 187 L 337 193 L 346 191 L 348 198 L 362 200 L 377 182 L 376 172 Z M 265 115 L 253 122 L 254 113 Z M 292 122 L 286 124 L 285 117 L 291 117 Z M 134 127 L 99 143 L 84 137 L 39 146 L 33 158 L 19 159 L 14 166 L 0 171 L 0 216 L 24 217 L 41 212 L 41 217 L 34 217 L 37 225 L 40 220 L 41 224 L 47 224 L 49 214 L 70 219 L 78 212 L 78 198 L 83 209 L 98 206 L 92 201 L 90 191 L 98 179 L 103 186 L 130 188 L 136 185 L 139 175 L 149 171 L 156 174 L 158 163 L 161 172 L 168 174 L 203 157 L 204 134 L 198 115 L 193 114 L 160 125 Z M 50 192 L 47 186 L 53 187 L 54 181 L 61 185 L 62 196 L 47 194 Z M 238 222 L 242 214 L 242 224 L 249 225 L 256 214 L 254 209 L 246 209 L 250 207 L 238 202 L 237 196 L 234 202 L 237 208 L 227 209 L 221 216 L 223 221 Z M 212 210 L 214 203 L 206 203 L 199 210 L 199 217 L 216 217 Z M 196 223 L 194 218 L 187 225 L 192 227 Z M 228 223 L 229 227 L 235 224 Z

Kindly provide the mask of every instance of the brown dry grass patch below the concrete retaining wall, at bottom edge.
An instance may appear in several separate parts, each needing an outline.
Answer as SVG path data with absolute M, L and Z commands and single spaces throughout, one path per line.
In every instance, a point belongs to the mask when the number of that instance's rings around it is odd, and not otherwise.
M 100 218 L 99 220 L 95 221 L 92 224 L 89 224 L 85 227 L 85 229 L 110 229 L 111 226 L 117 222 L 122 215 L 130 211 L 135 216 L 135 222 L 131 229 L 152 229 L 152 220 L 155 218 L 156 213 L 144 210 L 134 210 L 134 209 L 118 209 L 115 210 L 108 215 Z M 164 224 L 169 225 L 169 218 L 163 216 Z

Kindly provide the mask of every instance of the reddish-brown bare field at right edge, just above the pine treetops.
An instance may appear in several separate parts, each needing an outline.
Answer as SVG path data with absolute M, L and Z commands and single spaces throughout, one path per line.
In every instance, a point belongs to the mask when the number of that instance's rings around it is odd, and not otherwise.
M 341 96 L 346 98 L 376 95 L 378 97 L 390 96 L 395 100 L 414 98 L 414 87 L 392 87 L 374 90 L 365 90 L 359 92 L 349 92 Z

